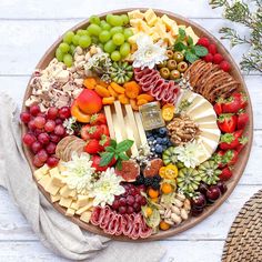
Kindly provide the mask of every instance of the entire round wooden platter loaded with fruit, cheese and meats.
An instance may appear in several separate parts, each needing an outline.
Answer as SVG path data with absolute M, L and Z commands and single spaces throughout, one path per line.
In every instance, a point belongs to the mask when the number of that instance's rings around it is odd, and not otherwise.
M 39 190 L 81 228 L 122 241 L 211 215 L 246 165 L 252 107 L 206 30 L 152 9 L 92 16 L 38 63 L 22 140 Z

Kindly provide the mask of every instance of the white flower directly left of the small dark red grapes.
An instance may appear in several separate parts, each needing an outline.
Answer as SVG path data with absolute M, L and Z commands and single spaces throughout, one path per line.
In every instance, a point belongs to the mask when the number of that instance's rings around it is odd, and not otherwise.
M 114 169 L 107 169 L 101 173 L 100 179 L 94 183 L 91 196 L 94 198 L 93 205 L 104 206 L 112 204 L 114 195 L 124 193 L 124 188 L 120 185 L 122 178 L 114 173 Z

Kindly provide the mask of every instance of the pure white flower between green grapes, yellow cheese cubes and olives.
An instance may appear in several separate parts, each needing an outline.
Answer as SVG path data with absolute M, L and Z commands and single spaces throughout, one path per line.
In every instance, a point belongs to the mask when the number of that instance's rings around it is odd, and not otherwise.
M 142 33 L 137 39 L 138 50 L 133 53 L 134 68 L 150 68 L 167 60 L 165 49 L 161 47 L 162 41 L 153 43 L 153 40 Z

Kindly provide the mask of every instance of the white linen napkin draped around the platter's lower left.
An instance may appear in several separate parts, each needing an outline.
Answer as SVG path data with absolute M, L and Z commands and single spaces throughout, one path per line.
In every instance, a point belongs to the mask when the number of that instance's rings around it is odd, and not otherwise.
M 157 262 L 165 249 L 157 242 L 118 242 L 81 230 L 60 214 L 38 190 L 22 151 L 19 109 L 0 93 L 0 185 L 28 220 L 44 246 L 73 261 Z

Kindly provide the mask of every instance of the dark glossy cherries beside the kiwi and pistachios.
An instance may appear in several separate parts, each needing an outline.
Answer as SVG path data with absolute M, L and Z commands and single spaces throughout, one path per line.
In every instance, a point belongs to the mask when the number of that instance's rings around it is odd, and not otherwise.
M 191 213 L 194 216 L 201 214 L 208 203 L 214 203 L 228 190 L 225 183 L 219 181 L 215 185 L 201 183 L 198 196 L 191 200 Z

